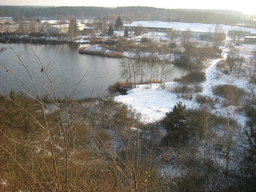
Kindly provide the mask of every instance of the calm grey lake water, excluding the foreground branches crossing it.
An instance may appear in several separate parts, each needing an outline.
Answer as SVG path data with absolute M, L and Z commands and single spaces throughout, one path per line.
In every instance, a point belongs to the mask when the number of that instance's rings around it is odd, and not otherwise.
M 6 45 L 1 44 L 2 46 Z M 30 45 L 17 43 L 11 46 L 15 46 L 22 59 L 28 56 L 27 46 Z M 77 99 L 91 96 L 108 96 L 108 86 L 110 84 L 124 81 L 120 76 L 120 59 L 79 54 L 78 49 L 86 46 L 84 44 L 33 44 L 32 46 L 46 66 L 54 64 L 52 67 L 48 67 L 48 73 L 50 73 L 54 85 L 58 84 L 56 92 L 60 98 L 70 95 L 76 87 L 78 80 L 81 80 L 84 75 L 84 79 L 80 82 L 75 94 Z M 56 58 L 55 61 L 54 58 Z M 44 87 L 40 84 L 40 81 L 45 81 L 48 85 L 49 82 L 46 80 L 45 73 L 41 72 L 41 67 L 37 62 L 31 62 L 32 60 L 34 61 L 33 58 L 28 56 L 24 61 L 32 76 L 34 76 L 40 91 L 44 94 Z M 3 92 L 8 94 L 11 89 L 15 90 L 15 92 L 20 92 L 20 88 L 28 90 L 24 84 L 32 86 L 32 80 L 28 72 L 24 67 L 15 62 L 15 55 L 12 50 L 7 49 L 6 52 L 0 53 L 0 63 L 0 89 Z M 6 72 L 3 65 L 12 70 L 16 77 L 22 80 L 24 84 L 18 83 L 12 74 Z M 184 74 L 184 70 L 176 67 L 174 72 L 168 76 L 166 82 L 172 81 L 175 77 L 180 77 L 182 74 Z M 31 91 L 33 90 L 32 86 Z

